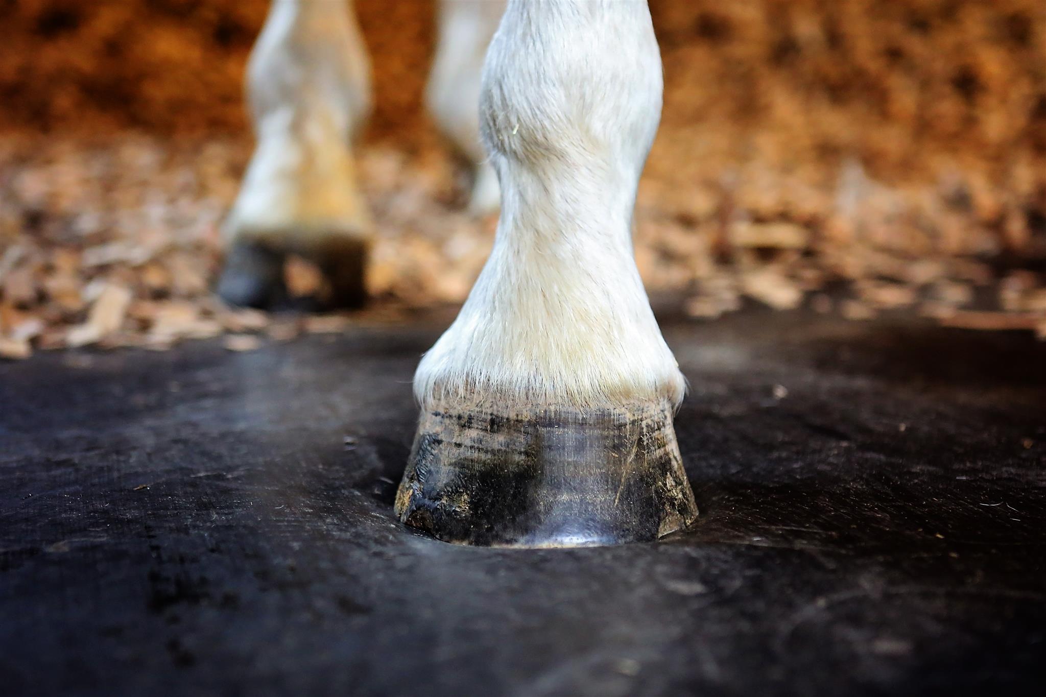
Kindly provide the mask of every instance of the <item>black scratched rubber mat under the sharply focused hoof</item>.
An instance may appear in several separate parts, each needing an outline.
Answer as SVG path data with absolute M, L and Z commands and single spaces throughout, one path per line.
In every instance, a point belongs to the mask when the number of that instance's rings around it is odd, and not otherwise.
M 1046 344 L 664 319 L 699 522 L 508 551 L 392 515 L 440 321 L 0 365 L 0 693 L 1041 694 Z

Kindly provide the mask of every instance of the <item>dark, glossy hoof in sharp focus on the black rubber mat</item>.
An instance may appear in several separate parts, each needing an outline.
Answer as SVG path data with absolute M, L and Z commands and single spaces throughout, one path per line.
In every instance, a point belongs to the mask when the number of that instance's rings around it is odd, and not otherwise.
M 396 514 L 448 542 L 653 541 L 698 515 L 665 406 L 422 414 Z

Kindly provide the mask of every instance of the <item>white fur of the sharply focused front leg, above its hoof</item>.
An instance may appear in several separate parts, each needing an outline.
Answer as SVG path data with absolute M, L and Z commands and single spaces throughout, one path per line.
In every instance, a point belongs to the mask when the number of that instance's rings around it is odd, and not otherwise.
M 480 99 L 501 219 L 458 318 L 418 366 L 423 406 L 679 403 L 683 376 L 631 239 L 660 112 L 643 0 L 509 1 Z

